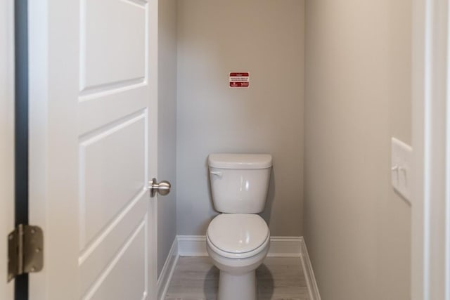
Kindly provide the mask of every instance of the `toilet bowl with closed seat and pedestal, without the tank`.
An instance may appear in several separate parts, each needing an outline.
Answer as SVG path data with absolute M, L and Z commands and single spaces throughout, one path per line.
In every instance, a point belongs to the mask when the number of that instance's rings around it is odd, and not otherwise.
M 220 300 L 257 299 L 255 270 L 269 252 L 269 228 L 257 214 L 219 214 L 207 229 L 207 252 L 220 270 Z

